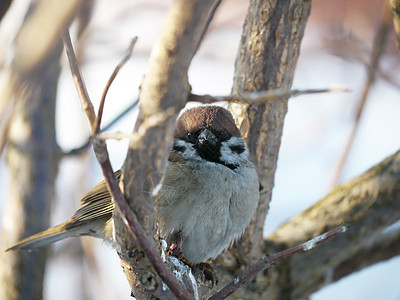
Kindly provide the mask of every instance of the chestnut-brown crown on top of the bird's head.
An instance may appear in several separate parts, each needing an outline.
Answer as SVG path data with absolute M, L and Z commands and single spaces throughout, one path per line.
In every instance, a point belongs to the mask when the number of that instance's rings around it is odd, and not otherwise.
M 175 137 L 184 138 L 188 132 L 196 132 L 205 128 L 214 131 L 225 130 L 233 136 L 241 136 L 227 109 L 206 105 L 188 109 L 179 117 L 176 122 Z

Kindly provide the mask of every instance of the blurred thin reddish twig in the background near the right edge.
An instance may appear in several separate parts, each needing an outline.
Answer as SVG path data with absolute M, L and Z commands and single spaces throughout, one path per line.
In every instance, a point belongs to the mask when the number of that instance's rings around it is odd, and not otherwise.
M 372 53 L 371 53 L 371 60 L 370 60 L 369 65 L 367 66 L 367 70 L 368 70 L 367 80 L 364 84 L 362 94 L 358 101 L 358 105 L 357 105 L 355 116 L 354 116 L 354 123 L 353 123 L 353 127 L 351 130 L 350 136 L 347 140 L 346 146 L 343 150 L 343 153 L 339 159 L 337 168 L 333 175 L 333 181 L 332 181 L 333 186 L 338 184 L 340 176 L 341 176 L 344 166 L 346 164 L 347 158 L 349 156 L 351 147 L 353 146 L 354 139 L 355 139 L 355 136 L 357 134 L 358 127 L 360 124 L 361 115 L 364 111 L 365 103 L 367 101 L 367 98 L 368 98 L 369 92 L 372 88 L 372 85 L 374 84 L 374 82 L 376 80 L 376 74 L 379 70 L 379 60 L 382 57 L 382 54 L 384 53 L 384 50 L 385 50 L 385 47 L 386 47 L 386 44 L 388 41 L 390 28 L 391 28 L 390 9 L 389 9 L 388 3 L 385 3 L 383 12 L 382 12 L 381 22 L 380 22 L 378 31 L 375 34 L 375 38 L 374 38 L 374 44 L 373 44 Z

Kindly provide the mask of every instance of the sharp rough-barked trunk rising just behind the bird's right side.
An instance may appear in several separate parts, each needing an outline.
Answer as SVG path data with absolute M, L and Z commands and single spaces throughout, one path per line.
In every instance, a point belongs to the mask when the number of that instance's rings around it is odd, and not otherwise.
M 251 1 L 236 59 L 234 95 L 240 98 L 242 92 L 290 89 L 310 7 L 311 1 L 307 0 Z M 263 227 L 274 186 L 287 100 L 230 105 L 263 187 L 256 215 L 239 243 L 247 263 L 255 262 L 262 254 Z

